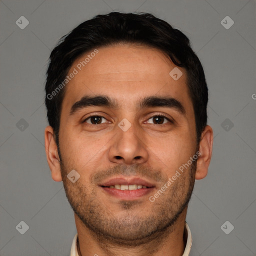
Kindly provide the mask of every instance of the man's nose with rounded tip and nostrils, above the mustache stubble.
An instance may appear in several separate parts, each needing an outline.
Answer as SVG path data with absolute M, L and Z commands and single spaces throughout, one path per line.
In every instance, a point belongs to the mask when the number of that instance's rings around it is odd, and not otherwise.
M 142 130 L 132 124 L 123 131 L 116 127 L 116 135 L 109 148 L 109 160 L 119 164 L 141 164 L 147 161 L 148 151 Z

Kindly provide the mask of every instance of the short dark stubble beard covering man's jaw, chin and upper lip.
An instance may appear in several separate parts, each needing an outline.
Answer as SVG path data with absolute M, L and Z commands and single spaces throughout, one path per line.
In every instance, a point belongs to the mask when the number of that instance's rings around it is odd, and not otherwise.
M 138 200 L 120 201 L 118 205 L 120 214 L 114 214 L 99 200 L 97 186 L 93 186 L 89 191 L 84 184 L 79 182 L 79 179 L 75 183 L 70 182 L 66 177 L 68 168 L 62 160 L 60 160 L 60 165 L 67 200 L 93 237 L 102 244 L 138 246 L 156 238 L 158 241 L 161 237 L 164 239 L 172 232 L 173 224 L 186 209 L 191 197 L 196 160 L 154 202 L 149 204 L 151 209 L 147 211 L 148 214 L 144 215 L 141 214 L 143 208 L 140 205 L 141 201 Z M 97 177 L 100 177 L 101 173 L 148 174 L 148 169 L 139 165 L 134 165 L 132 168 L 120 165 L 104 172 L 98 172 Z M 160 171 L 155 171 L 155 173 L 155 178 L 161 179 L 162 184 L 166 183 L 167 180 L 162 178 Z M 142 176 L 148 176 L 147 174 Z M 96 176 L 94 176 L 95 179 Z

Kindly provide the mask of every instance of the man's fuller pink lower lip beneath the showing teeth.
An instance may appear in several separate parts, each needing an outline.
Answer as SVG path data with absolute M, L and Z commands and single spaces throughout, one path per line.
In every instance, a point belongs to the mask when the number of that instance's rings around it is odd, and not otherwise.
M 113 195 L 115 197 L 118 197 L 123 200 L 132 200 L 137 199 L 143 195 L 146 195 L 150 193 L 154 187 L 148 187 L 148 188 L 139 188 L 134 190 L 120 190 L 116 188 L 110 188 L 110 187 L 102 187 L 105 192 L 107 192 L 110 195 Z

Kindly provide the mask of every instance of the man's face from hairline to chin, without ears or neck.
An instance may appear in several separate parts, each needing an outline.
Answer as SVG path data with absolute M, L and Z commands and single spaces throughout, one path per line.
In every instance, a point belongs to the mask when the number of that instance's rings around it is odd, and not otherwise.
M 61 176 L 87 228 L 134 244 L 173 224 L 192 192 L 197 144 L 186 74 L 178 67 L 174 80 L 175 65 L 153 48 L 100 47 L 80 67 L 88 54 L 68 72 L 78 71 L 62 101 Z

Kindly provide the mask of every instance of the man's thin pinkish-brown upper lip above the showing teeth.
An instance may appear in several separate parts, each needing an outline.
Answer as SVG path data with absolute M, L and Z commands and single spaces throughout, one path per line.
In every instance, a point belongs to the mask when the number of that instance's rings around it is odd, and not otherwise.
M 139 184 L 143 186 L 153 187 L 155 186 L 153 183 L 142 179 L 140 177 L 114 177 L 107 179 L 106 181 L 103 181 L 99 184 L 99 186 L 110 186 L 115 184 L 121 184 L 121 185 L 133 185 L 133 184 Z

